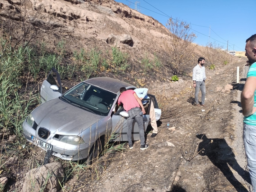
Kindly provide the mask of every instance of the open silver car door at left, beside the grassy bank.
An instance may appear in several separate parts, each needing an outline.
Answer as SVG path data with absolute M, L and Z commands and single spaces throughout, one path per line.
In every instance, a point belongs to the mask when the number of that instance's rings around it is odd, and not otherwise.
M 57 85 L 59 89 L 52 90 L 50 89 L 51 85 Z M 60 74 L 53 67 L 50 73 L 48 74 L 47 79 L 44 80 L 41 87 L 41 92 L 40 92 L 41 104 L 51 99 L 60 97 L 61 95 L 62 95 L 62 86 L 61 86 Z

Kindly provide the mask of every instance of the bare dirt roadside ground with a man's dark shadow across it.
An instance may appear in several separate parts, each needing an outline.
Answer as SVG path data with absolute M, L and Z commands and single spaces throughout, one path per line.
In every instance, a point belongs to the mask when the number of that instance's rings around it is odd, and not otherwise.
M 71 191 L 249 191 L 239 107 L 244 79 L 235 83 L 236 67 L 244 77 L 244 64 L 207 70 L 206 108 L 192 105 L 193 91 L 181 92 L 165 107 L 159 134 L 147 135 L 147 150 L 139 150 L 136 141 L 134 149 L 117 154 L 99 180 L 84 186 L 83 179 L 72 179 L 80 187 Z M 227 84 L 231 91 L 217 91 Z M 166 129 L 167 121 L 175 128 Z

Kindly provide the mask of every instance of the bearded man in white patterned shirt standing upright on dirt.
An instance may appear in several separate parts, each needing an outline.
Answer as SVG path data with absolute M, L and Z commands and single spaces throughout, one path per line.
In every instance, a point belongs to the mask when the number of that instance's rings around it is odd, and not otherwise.
M 196 106 L 200 107 L 199 101 L 198 101 L 198 94 L 199 89 L 202 92 L 202 102 L 201 106 L 205 107 L 204 105 L 204 99 L 205 99 L 205 67 L 203 66 L 205 63 L 205 59 L 203 57 L 200 57 L 198 59 L 198 65 L 196 65 L 193 68 L 193 87 L 195 88 L 195 104 Z

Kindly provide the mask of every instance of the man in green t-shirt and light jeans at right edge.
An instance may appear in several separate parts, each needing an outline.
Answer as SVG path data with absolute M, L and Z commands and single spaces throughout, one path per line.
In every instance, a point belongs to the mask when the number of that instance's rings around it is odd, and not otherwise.
M 245 56 L 252 65 L 241 93 L 243 139 L 253 191 L 256 192 L 256 34 L 246 40 Z

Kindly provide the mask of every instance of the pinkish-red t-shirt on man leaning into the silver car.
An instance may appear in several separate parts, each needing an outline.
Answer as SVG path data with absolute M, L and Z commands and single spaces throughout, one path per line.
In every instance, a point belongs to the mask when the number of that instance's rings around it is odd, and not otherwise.
M 126 111 L 129 111 L 132 108 L 135 107 L 140 107 L 138 101 L 135 99 L 134 90 L 127 90 L 122 92 L 120 97 L 118 98 L 118 104 L 120 105 L 121 103 L 124 104 L 124 108 Z M 135 93 L 136 94 L 136 93 Z

